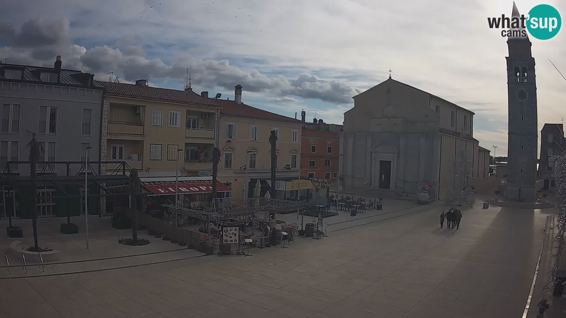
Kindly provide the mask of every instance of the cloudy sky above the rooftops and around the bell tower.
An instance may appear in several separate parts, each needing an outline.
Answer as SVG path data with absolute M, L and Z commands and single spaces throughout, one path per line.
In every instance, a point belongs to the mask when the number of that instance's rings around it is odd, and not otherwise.
M 543 2 L 517 0 L 521 14 Z M 544 2 L 563 12 L 566 2 Z M 63 67 L 121 83 L 234 98 L 257 108 L 342 124 L 351 97 L 387 79 L 474 111 L 474 137 L 507 153 L 507 44 L 487 18 L 511 16 L 501 0 L 3 0 L 0 59 Z M 533 42 L 538 125 L 566 105 L 566 27 Z

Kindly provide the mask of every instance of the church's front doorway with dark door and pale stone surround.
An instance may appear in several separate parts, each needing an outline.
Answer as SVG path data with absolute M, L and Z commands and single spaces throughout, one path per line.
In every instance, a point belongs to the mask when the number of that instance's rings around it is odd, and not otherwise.
M 371 150 L 371 188 L 396 190 L 397 148 L 391 144 L 380 144 Z

